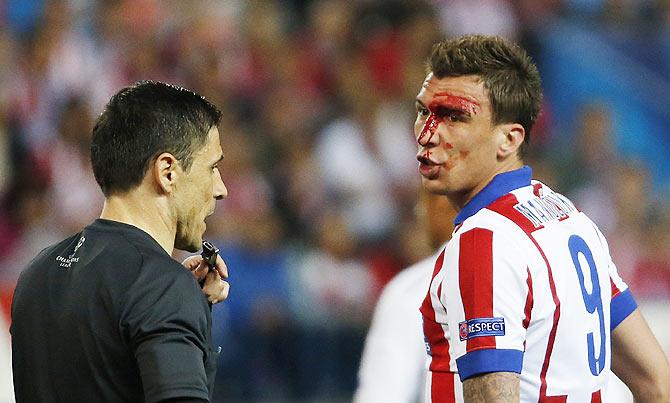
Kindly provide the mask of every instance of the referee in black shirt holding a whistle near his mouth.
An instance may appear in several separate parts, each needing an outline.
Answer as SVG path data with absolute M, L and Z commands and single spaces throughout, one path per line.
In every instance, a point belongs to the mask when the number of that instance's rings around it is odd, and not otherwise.
M 205 217 L 227 195 L 220 117 L 159 82 L 111 98 L 91 146 L 100 219 L 43 250 L 16 287 L 17 402 L 210 401 L 209 304 L 228 296 L 227 269 L 171 254 L 200 249 Z

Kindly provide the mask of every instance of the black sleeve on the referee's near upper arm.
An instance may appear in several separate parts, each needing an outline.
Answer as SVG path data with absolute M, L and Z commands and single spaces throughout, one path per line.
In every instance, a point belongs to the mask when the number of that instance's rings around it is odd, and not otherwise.
M 205 363 L 211 354 L 211 322 L 195 279 L 177 267 L 145 267 L 127 295 L 121 325 L 137 360 L 146 401 L 208 401 Z

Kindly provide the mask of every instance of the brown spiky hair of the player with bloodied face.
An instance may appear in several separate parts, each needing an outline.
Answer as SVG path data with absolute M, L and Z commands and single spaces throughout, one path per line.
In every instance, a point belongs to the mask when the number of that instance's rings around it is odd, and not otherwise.
M 491 102 L 492 123 L 523 126 L 526 136 L 519 155 L 525 155 L 542 105 L 542 84 L 537 66 L 524 49 L 499 36 L 446 39 L 433 46 L 426 70 L 436 78 L 479 76 Z

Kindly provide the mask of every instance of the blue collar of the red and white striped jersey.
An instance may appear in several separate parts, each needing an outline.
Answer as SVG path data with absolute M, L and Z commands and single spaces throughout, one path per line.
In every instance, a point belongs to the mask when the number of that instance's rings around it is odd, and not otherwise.
M 454 223 L 459 225 L 479 210 L 498 200 L 512 190 L 530 185 L 533 172 L 529 166 L 514 171 L 503 172 L 493 177 L 491 182 L 475 195 L 458 213 Z

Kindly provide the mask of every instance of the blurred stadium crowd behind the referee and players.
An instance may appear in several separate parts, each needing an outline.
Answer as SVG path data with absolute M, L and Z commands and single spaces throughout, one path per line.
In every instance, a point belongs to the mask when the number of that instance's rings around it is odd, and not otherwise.
M 536 59 L 535 176 L 600 225 L 670 351 L 670 1 L 0 0 L 0 26 L 0 401 L 18 274 L 99 214 L 92 122 L 141 79 L 223 110 L 217 401 L 350 399 L 380 289 L 430 253 L 414 216 L 423 61 L 469 32 Z

